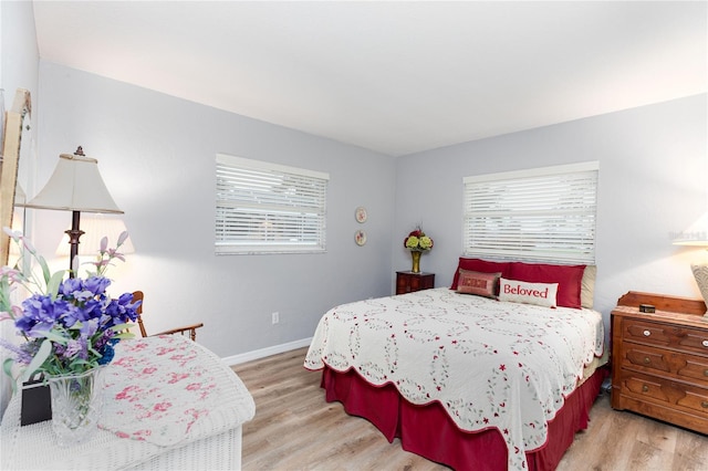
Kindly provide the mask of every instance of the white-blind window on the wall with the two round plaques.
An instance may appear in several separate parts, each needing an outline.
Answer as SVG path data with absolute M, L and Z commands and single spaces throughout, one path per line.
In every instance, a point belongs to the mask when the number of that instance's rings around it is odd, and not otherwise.
M 330 176 L 217 154 L 216 253 L 324 252 Z

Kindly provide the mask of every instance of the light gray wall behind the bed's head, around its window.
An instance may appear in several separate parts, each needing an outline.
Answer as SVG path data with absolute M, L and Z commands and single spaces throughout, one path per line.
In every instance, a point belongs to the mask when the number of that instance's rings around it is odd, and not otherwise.
M 398 158 L 394 266 L 403 238 L 423 222 L 435 240 L 421 270 L 450 285 L 462 250 L 462 177 L 600 161 L 595 308 L 627 291 L 700 299 L 691 261 L 708 252 L 673 245 L 708 210 L 707 96 L 698 95 Z M 608 324 L 607 324 L 608 325 Z

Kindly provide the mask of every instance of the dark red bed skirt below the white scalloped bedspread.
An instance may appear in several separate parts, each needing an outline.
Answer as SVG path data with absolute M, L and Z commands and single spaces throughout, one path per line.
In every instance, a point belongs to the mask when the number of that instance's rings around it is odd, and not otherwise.
M 527 452 L 530 471 L 558 467 L 575 432 L 587 428 L 590 409 L 605 377 L 607 370 L 598 368 L 565 399 L 549 422 L 545 446 Z M 347 414 L 371 421 L 389 442 L 398 437 L 404 450 L 456 470 L 507 469 L 507 444 L 497 429 L 462 431 L 439 402 L 416 406 L 400 397 L 393 385 L 373 386 L 353 369 L 339 373 L 325 367 L 321 386 L 327 402 L 342 402 Z

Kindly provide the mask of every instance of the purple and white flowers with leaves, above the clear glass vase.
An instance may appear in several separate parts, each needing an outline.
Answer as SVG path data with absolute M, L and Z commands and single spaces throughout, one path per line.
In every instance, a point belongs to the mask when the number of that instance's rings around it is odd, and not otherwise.
M 45 265 L 44 259 L 23 236 L 10 236 L 17 243 L 24 244 L 29 254 L 42 266 Z M 127 233 L 121 234 L 118 247 L 126 239 Z M 139 303 L 133 303 L 131 293 L 118 299 L 111 299 L 106 293 L 111 280 L 104 273 L 114 259 L 124 260 L 124 255 L 118 253 L 117 247 L 110 249 L 107 240 L 103 240 L 98 260 L 93 262 L 96 271 L 88 272 L 86 279 L 61 281 L 55 293 L 51 292 L 49 279 L 45 279 L 44 286 L 34 285 L 33 279 L 23 270 L 0 268 L 0 321 L 12 321 L 18 334 L 27 339 L 20 346 L 0 339 L 0 347 L 9 349 L 14 359 L 24 365 L 30 364 L 32 358 L 37 359 L 37 355 L 42 355 L 43 363 L 39 369 L 50 375 L 81 373 L 110 363 L 114 345 L 118 342 L 118 332 L 114 331 L 114 326 L 136 321 L 139 306 Z M 52 276 L 55 278 L 56 274 Z M 21 306 L 14 305 L 9 300 L 15 285 L 28 291 L 39 289 L 40 292 L 24 300 Z M 49 355 L 45 347 L 40 348 L 43 345 L 51 346 Z

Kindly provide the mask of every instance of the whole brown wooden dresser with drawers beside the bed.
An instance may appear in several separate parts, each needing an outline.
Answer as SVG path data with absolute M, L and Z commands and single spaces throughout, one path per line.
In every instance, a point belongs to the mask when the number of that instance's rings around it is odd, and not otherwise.
M 655 313 L 639 312 L 650 304 Z M 708 433 L 701 300 L 628 292 L 612 311 L 612 407 Z

